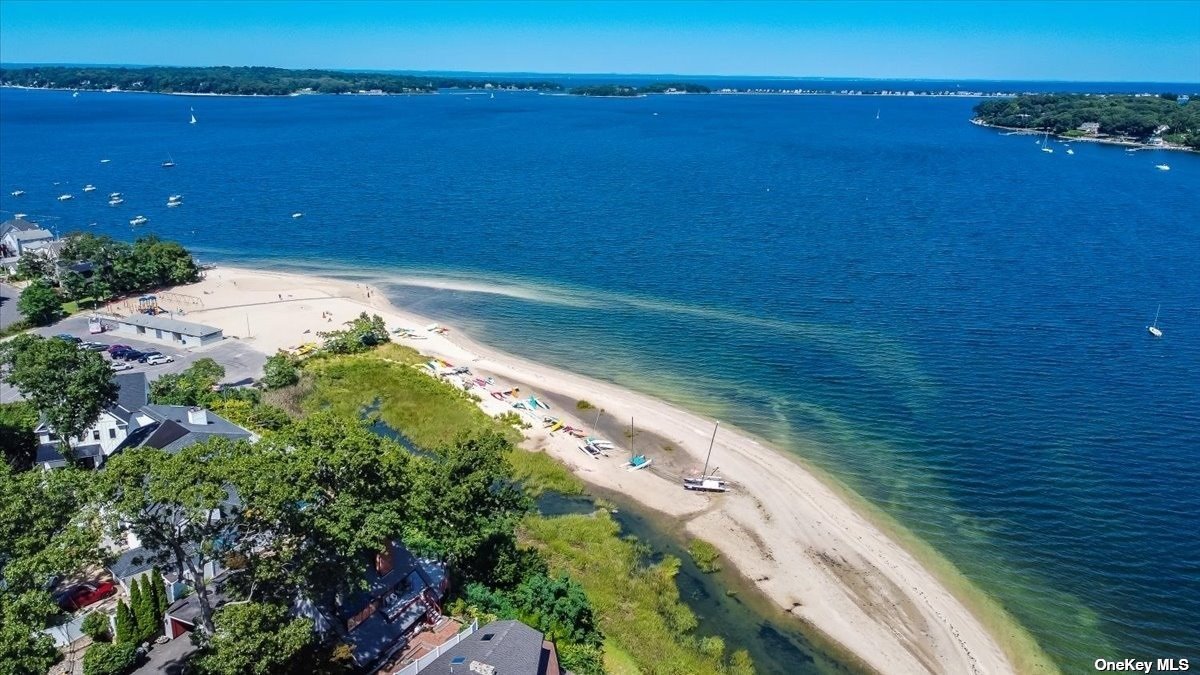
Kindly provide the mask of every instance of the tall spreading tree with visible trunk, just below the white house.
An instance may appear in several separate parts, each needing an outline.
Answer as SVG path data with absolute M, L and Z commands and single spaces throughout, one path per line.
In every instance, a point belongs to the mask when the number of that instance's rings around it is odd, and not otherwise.
M 174 454 L 127 449 L 97 477 L 113 530 L 127 526 L 152 562 L 188 573 L 200 611 L 198 627 L 208 633 L 212 632 L 212 607 L 204 569 L 234 545 L 241 509 L 230 502 L 227 474 L 241 454 L 250 454 L 248 446 L 226 438 L 210 438 Z

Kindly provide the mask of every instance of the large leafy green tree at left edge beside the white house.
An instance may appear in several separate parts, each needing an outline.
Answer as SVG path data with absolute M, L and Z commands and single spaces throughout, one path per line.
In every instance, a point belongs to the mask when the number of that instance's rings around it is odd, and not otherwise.
M 8 383 L 46 417 L 64 448 L 116 400 L 104 359 L 66 340 L 18 335 L 0 346 L 0 364 L 10 368 Z

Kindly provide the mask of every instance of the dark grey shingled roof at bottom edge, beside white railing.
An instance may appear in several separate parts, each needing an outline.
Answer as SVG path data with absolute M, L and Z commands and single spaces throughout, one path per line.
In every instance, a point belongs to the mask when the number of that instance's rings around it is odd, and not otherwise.
M 470 663 L 476 661 L 494 667 L 496 675 L 559 675 L 557 665 L 551 667 L 552 661 L 557 662 L 557 658 L 551 658 L 552 649 L 544 647 L 540 632 L 520 621 L 493 621 L 445 651 L 437 661 L 426 665 L 421 674 L 461 675 L 470 673 Z M 455 662 L 454 669 L 451 662 Z

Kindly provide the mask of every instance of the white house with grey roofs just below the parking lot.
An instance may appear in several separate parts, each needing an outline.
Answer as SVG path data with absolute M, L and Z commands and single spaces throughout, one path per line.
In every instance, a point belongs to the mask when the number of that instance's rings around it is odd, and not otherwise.
M 198 407 L 150 405 L 145 374 L 115 375 L 116 402 L 100 413 L 96 423 L 78 438 L 71 438 L 74 459 L 86 468 L 98 468 L 113 454 L 126 448 L 157 448 L 170 453 L 211 437 L 232 441 L 256 440 L 256 436 Z M 67 460 L 59 452 L 59 440 L 50 426 L 42 422 L 34 429 L 37 435 L 36 462 L 42 468 L 60 468 Z

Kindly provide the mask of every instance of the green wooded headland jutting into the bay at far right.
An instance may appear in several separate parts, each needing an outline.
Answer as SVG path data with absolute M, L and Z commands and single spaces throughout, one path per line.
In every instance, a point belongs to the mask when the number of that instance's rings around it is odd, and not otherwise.
M 1169 142 L 1200 149 L 1200 104 L 1181 103 L 1174 94 L 1160 96 L 1110 96 L 1082 94 L 1021 95 L 991 98 L 974 108 L 979 120 L 1018 129 L 1068 133 L 1080 125 L 1099 123 L 1106 136 L 1146 138 L 1160 126 Z

